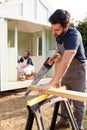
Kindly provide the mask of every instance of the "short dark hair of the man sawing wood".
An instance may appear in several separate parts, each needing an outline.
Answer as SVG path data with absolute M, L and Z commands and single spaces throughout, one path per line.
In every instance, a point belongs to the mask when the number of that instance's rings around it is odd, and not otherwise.
M 49 18 L 51 24 L 61 24 L 65 27 L 66 24 L 70 23 L 70 13 L 66 10 L 57 9 Z

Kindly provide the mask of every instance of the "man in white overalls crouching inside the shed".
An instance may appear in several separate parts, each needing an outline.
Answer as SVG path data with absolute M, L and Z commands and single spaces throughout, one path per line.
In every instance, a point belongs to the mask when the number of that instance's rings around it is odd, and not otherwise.
M 24 75 L 27 76 L 27 79 L 31 76 L 32 72 L 34 72 L 35 67 L 33 66 L 32 59 L 30 58 L 29 51 L 25 51 L 23 56 L 18 60 L 18 73 L 22 73 L 22 78 Z

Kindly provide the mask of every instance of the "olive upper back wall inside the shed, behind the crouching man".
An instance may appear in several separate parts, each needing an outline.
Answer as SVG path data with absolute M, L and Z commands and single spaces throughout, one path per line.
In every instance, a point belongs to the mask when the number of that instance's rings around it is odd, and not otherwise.
M 11 33 L 12 35 L 12 33 Z M 35 33 L 18 33 L 18 55 L 22 55 L 25 50 L 29 50 L 32 56 L 37 56 L 38 37 L 41 37 L 41 32 Z

